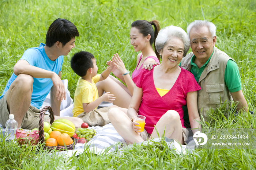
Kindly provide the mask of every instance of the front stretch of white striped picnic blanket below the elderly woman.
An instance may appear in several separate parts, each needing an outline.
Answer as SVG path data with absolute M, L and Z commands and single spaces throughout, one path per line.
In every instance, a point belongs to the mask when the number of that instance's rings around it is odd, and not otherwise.
M 76 144 L 74 150 L 68 150 L 68 151 L 59 151 L 56 154 L 57 155 L 64 155 L 65 157 L 71 157 L 72 155 L 79 155 L 82 154 L 84 151 L 90 151 L 91 153 L 94 154 L 102 154 L 103 152 L 112 152 L 114 150 L 120 150 L 120 153 L 123 152 L 123 147 L 131 147 L 132 145 L 127 145 L 125 140 L 117 133 L 115 128 L 111 123 L 106 124 L 103 127 L 96 126 L 96 127 L 91 127 L 94 128 L 97 132 L 97 135 L 94 136 L 94 138 L 89 141 L 88 143 L 81 144 L 78 143 Z M 140 142 L 137 144 L 143 144 L 147 145 L 152 142 L 159 142 L 159 138 L 154 139 L 150 142 L 145 141 L 145 142 Z M 170 149 L 175 148 L 175 151 L 178 154 L 189 154 L 190 152 L 193 152 L 195 144 L 193 141 L 193 137 L 190 136 L 189 140 L 187 142 L 188 145 L 180 145 L 178 144 L 175 140 L 165 138 L 165 142 L 167 143 L 167 146 L 169 146 Z

